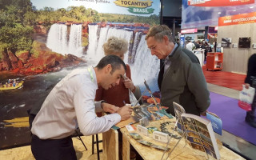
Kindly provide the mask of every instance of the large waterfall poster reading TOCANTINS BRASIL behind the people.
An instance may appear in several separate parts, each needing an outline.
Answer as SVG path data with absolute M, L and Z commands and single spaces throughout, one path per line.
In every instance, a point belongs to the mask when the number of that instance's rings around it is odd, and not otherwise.
M 30 144 L 26 111 L 71 70 L 96 66 L 110 36 L 129 42 L 134 84 L 158 91 L 160 62 L 145 37 L 159 16 L 158 0 L 0 1 L 0 149 Z

